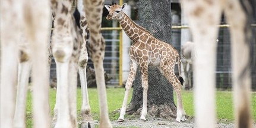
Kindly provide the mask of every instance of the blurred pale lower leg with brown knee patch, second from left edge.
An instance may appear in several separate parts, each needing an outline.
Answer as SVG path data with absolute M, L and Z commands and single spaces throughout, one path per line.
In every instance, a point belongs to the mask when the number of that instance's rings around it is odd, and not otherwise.
M 25 117 L 26 117 L 27 86 L 29 84 L 31 61 L 30 61 L 30 55 L 25 49 L 20 50 L 20 56 L 19 56 L 20 61 L 18 64 L 18 86 L 17 86 L 16 106 L 15 106 L 15 113 L 14 113 L 14 127 L 26 127 Z

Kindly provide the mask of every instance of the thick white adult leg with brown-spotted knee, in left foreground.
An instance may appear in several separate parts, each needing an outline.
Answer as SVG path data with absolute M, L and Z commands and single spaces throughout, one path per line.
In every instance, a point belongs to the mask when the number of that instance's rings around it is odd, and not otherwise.
M 57 70 L 55 127 L 77 127 L 76 88 L 80 54 L 79 34 L 72 12 L 74 1 L 51 1 L 55 22 L 52 35 L 52 54 Z M 58 6 L 62 5 L 62 6 Z M 53 121 L 55 121 L 53 120 Z M 54 122 L 53 122 L 54 125 Z

